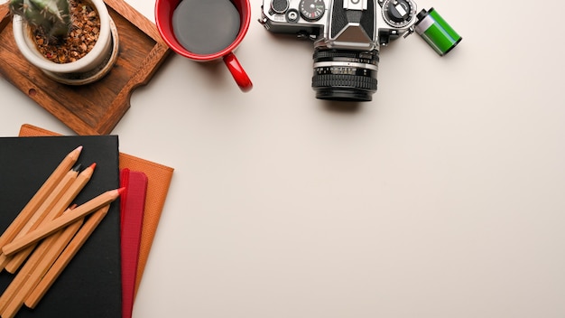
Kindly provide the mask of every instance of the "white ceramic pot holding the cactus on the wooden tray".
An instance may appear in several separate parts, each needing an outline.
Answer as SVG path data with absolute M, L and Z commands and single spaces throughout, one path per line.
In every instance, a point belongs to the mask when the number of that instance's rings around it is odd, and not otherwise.
M 116 24 L 108 14 L 103 0 L 88 0 L 100 17 L 100 33 L 91 51 L 78 61 L 59 64 L 47 60 L 37 50 L 27 23 L 14 15 L 14 40 L 23 57 L 43 70 L 51 79 L 64 84 L 84 85 L 104 77 L 117 60 L 118 36 Z

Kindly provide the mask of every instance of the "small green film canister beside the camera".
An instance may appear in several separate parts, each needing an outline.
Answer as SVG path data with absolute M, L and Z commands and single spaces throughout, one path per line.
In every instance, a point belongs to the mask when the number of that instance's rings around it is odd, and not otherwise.
M 429 11 L 422 9 L 416 17 L 416 33 L 440 56 L 449 53 L 463 39 L 433 8 Z

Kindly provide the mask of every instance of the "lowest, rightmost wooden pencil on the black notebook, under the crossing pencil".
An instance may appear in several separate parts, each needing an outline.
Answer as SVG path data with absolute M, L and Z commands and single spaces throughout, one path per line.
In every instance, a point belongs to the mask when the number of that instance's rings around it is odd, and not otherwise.
M 29 308 L 35 308 L 35 306 L 39 304 L 43 295 L 47 293 L 51 285 L 53 285 L 55 280 L 60 276 L 60 273 L 62 273 L 65 267 L 69 265 L 72 257 L 74 257 L 79 249 L 82 248 L 90 234 L 92 234 L 94 229 L 97 228 L 97 225 L 100 223 L 100 221 L 102 221 L 104 217 L 106 217 L 109 208 L 110 205 L 107 204 L 106 206 L 94 212 L 88 218 L 84 225 L 79 229 L 79 232 L 69 242 L 69 245 L 67 245 L 67 247 L 60 254 L 60 257 L 57 258 L 55 263 L 53 263 L 50 268 L 48 268 L 47 273 L 42 277 L 39 284 L 36 285 L 35 288 L 33 288 L 32 293 L 27 296 L 24 301 L 24 304 L 26 306 L 28 306 Z

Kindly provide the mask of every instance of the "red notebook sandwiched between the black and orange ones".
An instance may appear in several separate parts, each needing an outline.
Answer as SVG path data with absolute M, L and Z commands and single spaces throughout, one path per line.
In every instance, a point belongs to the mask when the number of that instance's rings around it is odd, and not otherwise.
M 139 249 L 144 225 L 147 176 L 145 173 L 120 170 L 120 186 L 125 187 L 121 196 L 122 218 L 122 317 L 131 318 L 134 309 L 135 278 Z

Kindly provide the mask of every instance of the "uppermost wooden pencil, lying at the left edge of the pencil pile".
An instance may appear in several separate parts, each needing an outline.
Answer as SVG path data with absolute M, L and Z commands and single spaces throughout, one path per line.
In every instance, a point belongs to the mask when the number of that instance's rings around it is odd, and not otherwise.
M 49 193 L 55 188 L 55 186 L 57 186 L 57 183 L 60 182 L 65 173 L 67 173 L 69 169 L 75 163 L 77 163 L 81 151 L 82 145 L 67 154 L 57 166 L 57 168 L 55 168 L 55 170 L 47 178 L 47 180 L 43 182 L 41 188 L 37 192 L 35 192 L 32 199 L 28 201 L 25 207 L 23 207 L 23 210 L 20 211 L 20 213 L 14 219 L 14 221 L 12 221 L 10 226 L 5 229 L 2 236 L 0 236 L 0 248 L 4 248 L 7 243 L 11 242 L 15 238 L 15 236 L 20 232 L 25 223 L 30 220 L 33 212 L 37 210 L 37 208 L 42 204 L 45 198 L 47 198 Z

